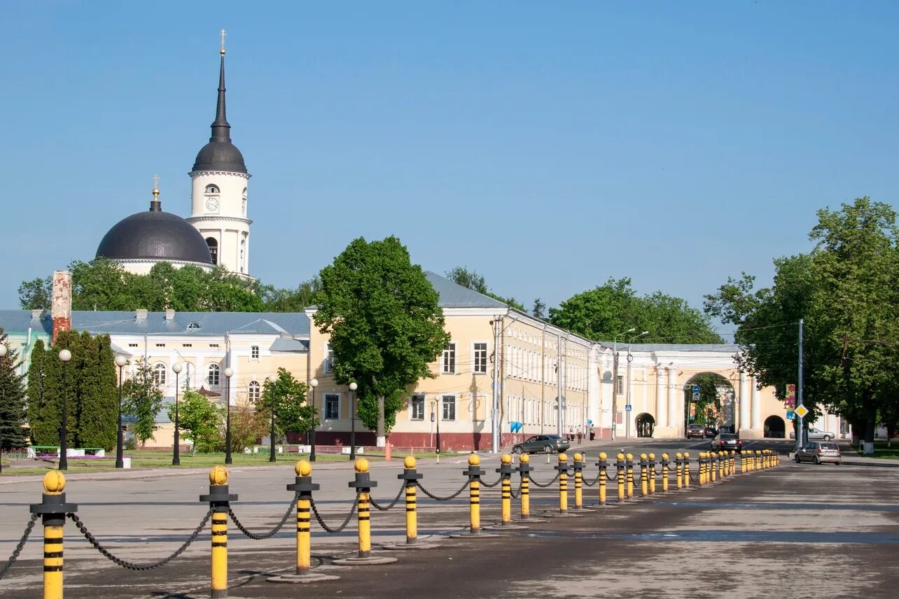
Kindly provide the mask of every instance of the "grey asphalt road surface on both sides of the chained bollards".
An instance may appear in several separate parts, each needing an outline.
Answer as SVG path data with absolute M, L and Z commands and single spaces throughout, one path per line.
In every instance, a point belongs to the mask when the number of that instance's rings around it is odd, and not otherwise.
M 708 448 L 699 440 L 620 441 L 583 449 L 595 478 L 599 451 L 634 454 Z M 752 449 L 775 448 L 786 454 L 788 441 L 755 442 Z M 574 453 L 574 452 L 570 452 Z M 895 597 L 899 568 L 892 556 L 899 545 L 899 478 L 893 468 L 852 465 L 814 466 L 782 460 L 779 468 L 751 472 L 686 493 L 656 495 L 621 507 L 570 519 L 530 524 L 527 530 L 476 540 L 449 539 L 445 533 L 467 524 L 467 492 L 452 501 L 419 501 L 419 532 L 441 544 L 432 551 L 395 551 L 395 564 L 341 568 L 331 559 L 355 550 L 354 523 L 340 534 L 313 525 L 316 571 L 341 577 L 308 586 L 266 582 L 289 573 L 295 559 L 292 517 L 267 541 L 252 541 L 229 528 L 231 597 L 568 597 L 613 592 L 640 597 Z M 483 456 L 498 475 L 499 460 Z M 555 463 L 555 456 L 552 459 Z M 540 482 L 555 475 L 542 455 L 532 456 Z M 441 464 L 421 462 L 423 485 L 449 495 L 463 484 L 465 456 Z M 375 463 L 372 495 L 386 504 L 396 497 L 399 462 Z M 592 476 L 591 476 L 592 473 Z M 239 495 L 236 515 L 254 532 L 271 529 L 289 507 L 293 480 L 289 463 L 236 468 L 230 491 Z M 316 504 L 328 524 L 339 524 L 352 505 L 349 464 L 316 465 L 322 485 Z M 28 504 L 40 500 L 40 480 L 0 480 L 0 559 L 18 541 L 28 519 Z M 517 485 L 516 485 L 517 487 Z M 661 486 L 660 486 L 661 488 Z M 610 498 L 614 489 L 610 486 Z M 110 551 L 147 562 L 174 551 L 200 523 L 208 492 L 203 471 L 131 471 L 70 477 L 67 498 L 78 515 Z M 556 489 L 532 488 L 532 513 L 557 507 Z M 596 488 L 585 488 L 585 500 Z M 482 493 L 485 524 L 499 515 L 499 489 Z M 518 504 L 513 504 L 513 514 Z M 387 512 L 372 510 L 373 541 L 405 539 L 402 503 Z M 76 528 L 66 526 L 66 596 L 204 597 L 209 596 L 209 533 L 169 565 L 147 572 L 125 570 L 97 553 Z M 37 597 L 41 591 L 40 530 L 22 557 L 0 579 L 0 597 Z M 385 555 L 386 551 L 375 551 Z M 2 563 L 2 562 L 0 562 Z

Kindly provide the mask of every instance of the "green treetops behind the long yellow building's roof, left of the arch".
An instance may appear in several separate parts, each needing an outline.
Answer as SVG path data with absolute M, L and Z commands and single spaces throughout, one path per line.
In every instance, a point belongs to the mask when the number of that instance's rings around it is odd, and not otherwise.
M 629 278 L 610 278 L 602 286 L 574 295 L 549 309 L 549 322 L 597 341 L 622 330 L 648 330 L 657 343 L 722 343 L 708 316 L 680 297 L 657 291 L 640 297 Z

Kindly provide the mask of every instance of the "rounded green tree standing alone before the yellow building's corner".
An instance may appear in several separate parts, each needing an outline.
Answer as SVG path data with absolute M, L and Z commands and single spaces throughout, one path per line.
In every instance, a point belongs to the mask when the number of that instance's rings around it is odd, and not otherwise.
M 330 335 L 338 383 L 359 384 L 359 416 L 378 445 L 405 394 L 449 342 L 438 295 L 396 237 L 359 238 L 322 269 L 316 326 Z

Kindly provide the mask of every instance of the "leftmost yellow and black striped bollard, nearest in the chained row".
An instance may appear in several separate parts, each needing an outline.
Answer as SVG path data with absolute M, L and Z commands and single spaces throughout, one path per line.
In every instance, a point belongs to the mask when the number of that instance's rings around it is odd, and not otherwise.
M 62 599 L 63 592 L 63 527 L 66 514 L 78 506 L 66 503 L 66 476 L 58 471 L 44 475 L 41 503 L 31 504 L 31 514 L 40 514 L 44 525 L 44 599 Z

